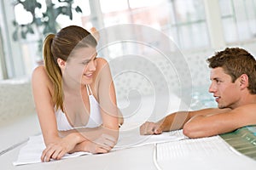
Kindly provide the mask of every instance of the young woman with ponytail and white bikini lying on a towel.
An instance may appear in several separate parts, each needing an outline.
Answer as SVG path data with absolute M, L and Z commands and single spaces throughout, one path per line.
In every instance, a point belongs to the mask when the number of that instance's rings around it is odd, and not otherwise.
M 44 65 L 32 74 L 32 92 L 46 146 L 42 161 L 66 153 L 106 153 L 116 144 L 119 110 L 108 62 L 96 39 L 67 26 L 44 40 Z

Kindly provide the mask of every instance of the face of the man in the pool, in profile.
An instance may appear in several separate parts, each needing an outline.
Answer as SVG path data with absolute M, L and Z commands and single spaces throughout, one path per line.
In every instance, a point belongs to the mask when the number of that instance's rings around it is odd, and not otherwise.
M 210 79 L 212 83 L 209 92 L 215 97 L 218 108 L 236 108 L 241 97 L 239 80 L 232 82 L 230 75 L 221 67 L 212 69 Z

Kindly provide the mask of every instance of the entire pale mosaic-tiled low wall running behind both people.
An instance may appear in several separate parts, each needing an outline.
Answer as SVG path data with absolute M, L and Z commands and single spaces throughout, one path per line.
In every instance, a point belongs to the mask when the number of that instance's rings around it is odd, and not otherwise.
M 254 44 L 243 47 L 254 55 L 256 54 Z M 214 50 L 174 55 L 171 61 L 162 56 L 147 59 L 132 59 L 132 56 L 129 59 L 128 56 L 127 60 L 122 58 L 114 62 L 110 61 L 117 99 L 167 93 L 175 93 L 179 96 L 181 90 L 187 93 L 192 85 L 192 94 L 189 91 L 189 95 L 193 100 L 192 104 L 195 104 L 195 109 L 208 106 L 201 99 L 207 100 L 212 96 L 207 93 L 210 70 L 206 62 L 212 54 Z M 180 62 L 178 57 L 184 58 L 186 63 Z M 187 66 L 189 68 L 186 68 Z M 0 124 L 15 117 L 35 114 L 29 80 L 0 82 L 0 96 Z

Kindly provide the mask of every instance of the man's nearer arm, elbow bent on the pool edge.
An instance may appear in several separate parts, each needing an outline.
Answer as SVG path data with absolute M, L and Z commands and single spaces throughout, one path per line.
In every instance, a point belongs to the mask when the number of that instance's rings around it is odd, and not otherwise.
M 192 116 L 184 125 L 183 133 L 189 138 L 202 138 L 253 124 L 256 124 L 256 105 L 250 104 L 218 114 Z

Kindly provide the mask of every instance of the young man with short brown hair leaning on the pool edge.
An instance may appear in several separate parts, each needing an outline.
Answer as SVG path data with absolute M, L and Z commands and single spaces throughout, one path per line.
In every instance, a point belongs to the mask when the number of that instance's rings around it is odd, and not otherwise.
M 145 122 L 141 134 L 160 134 L 183 128 L 189 138 L 228 133 L 256 124 L 256 61 L 242 48 L 225 48 L 207 59 L 212 68 L 209 92 L 218 108 L 179 111 L 159 122 Z

